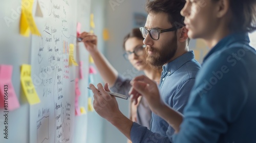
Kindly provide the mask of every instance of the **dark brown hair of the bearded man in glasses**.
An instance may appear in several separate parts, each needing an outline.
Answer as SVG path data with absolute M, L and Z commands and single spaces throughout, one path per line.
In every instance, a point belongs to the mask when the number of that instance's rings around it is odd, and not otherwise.
M 145 10 L 148 14 L 160 12 L 167 13 L 169 23 L 178 29 L 185 26 L 185 18 L 180 13 L 185 4 L 185 0 L 147 0 Z M 175 31 L 175 34 L 176 33 L 177 31 Z M 189 41 L 190 39 L 187 38 L 187 43 L 189 43 Z

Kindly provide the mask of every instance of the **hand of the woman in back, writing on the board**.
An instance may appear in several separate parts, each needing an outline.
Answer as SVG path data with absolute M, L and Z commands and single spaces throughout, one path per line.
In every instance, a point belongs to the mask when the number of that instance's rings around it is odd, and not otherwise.
M 79 35 L 79 38 L 82 39 L 84 46 L 91 54 L 94 54 L 98 51 L 97 49 L 97 36 L 92 33 L 83 32 Z

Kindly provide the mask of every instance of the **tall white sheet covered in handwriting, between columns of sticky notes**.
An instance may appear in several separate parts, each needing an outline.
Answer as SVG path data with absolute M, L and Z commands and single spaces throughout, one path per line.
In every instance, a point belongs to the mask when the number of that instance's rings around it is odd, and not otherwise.
M 69 66 L 69 50 L 76 43 L 75 6 L 76 1 L 49 1 L 49 17 L 36 17 L 41 36 L 32 36 L 31 67 L 40 103 L 30 106 L 30 142 L 73 140 L 78 74 Z

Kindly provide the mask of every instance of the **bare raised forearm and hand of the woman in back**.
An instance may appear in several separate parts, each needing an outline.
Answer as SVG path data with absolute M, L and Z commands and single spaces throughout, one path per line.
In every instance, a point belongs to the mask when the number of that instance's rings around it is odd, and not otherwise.
M 79 37 L 82 38 L 82 42 L 86 46 L 86 50 L 91 54 L 104 82 L 109 83 L 110 86 L 113 86 L 117 79 L 118 73 L 117 70 L 105 58 L 105 56 L 98 51 L 97 36 L 92 33 L 83 32 Z

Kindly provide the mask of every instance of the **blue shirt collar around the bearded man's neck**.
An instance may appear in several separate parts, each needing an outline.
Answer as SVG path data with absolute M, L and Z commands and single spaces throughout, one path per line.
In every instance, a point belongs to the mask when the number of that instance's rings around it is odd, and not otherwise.
M 191 61 L 195 58 L 194 52 L 189 51 L 180 57 L 174 59 L 173 61 L 167 63 L 163 66 L 163 72 L 168 72 L 168 74 L 173 74 L 174 71 L 179 69 L 184 63 Z

